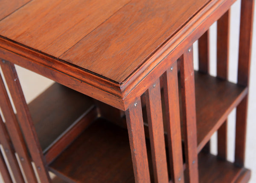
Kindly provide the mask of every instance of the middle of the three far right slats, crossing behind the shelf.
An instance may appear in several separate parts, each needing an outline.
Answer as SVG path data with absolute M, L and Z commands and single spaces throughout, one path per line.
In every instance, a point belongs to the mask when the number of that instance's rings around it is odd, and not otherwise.
M 217 21 L 217 77 L 228 79 L 230 10 Z M 227 159 L 227 120 L 218 129 L 218 157 Z

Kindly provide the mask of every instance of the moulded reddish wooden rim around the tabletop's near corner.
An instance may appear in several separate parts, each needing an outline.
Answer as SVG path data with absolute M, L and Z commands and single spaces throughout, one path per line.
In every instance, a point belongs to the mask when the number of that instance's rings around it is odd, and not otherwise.
M 138 83 L 141 83 L 141 86 L 151 85 L 151 83 L 148 83 L 144 79 L 146 78 L 145 76 L 155 69 L 160 69 L 161 67 L 168 68 L 164 67 L 165 64 L 169 65 L 169 63 L 162 61 L 163 58 L 169 53 L 172 53 L 173 61 L 177 60 L 183 50 L 187 49 L 187 43 L 192 44 L 196 41 L 205 32 L 205 28 L 209 28 L 234 2 L 235 0 L 212 0 L 207 3 L 198 11 L 197 16 L 189 19 L 186 25 L 177 30 L 172 38 L 166 41 L 160 49 L 154 52 L 154 54 L 120 84 L 107 78 L 102 78 L 90 71 L 84 71 L 72 64 L 56 60 L 35 50 L 17 45 L 12 43 L 12 41 L 7 41 L 3 37 L 0 38 L 0 47 L 2 47 L 0 48 L 0 56 L 88 96 L 92 96 L 121 110 L 126 110 L 131 105 L 131 96 L 139 97 L 147 88 L 145 87 L 142 93 L 136 91 L 131 92 L 131 90 L 137 88 L 135 86 Z M 26 54 L 24 55 L 24 53 Z M 159 64 L 160 62 L 161 64 Z M 161 72 L 163 73 L 164 70 Z M 81 85 L 84 85 L 84 87 L 81 87 Z M 138 96 L 136 93 L 138 93 Z

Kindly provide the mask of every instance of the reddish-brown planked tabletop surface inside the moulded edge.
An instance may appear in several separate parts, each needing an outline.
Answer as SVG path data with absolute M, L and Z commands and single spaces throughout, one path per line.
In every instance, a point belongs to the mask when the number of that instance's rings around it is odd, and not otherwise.
M 6 2 L 1 38 L 120 84 L 209 0 Z

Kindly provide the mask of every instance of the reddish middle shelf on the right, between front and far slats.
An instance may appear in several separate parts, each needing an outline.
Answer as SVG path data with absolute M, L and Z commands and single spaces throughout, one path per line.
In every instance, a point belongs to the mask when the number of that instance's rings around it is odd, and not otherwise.
M 247 87 L 195 71 L 198 152 L 247 92 Z

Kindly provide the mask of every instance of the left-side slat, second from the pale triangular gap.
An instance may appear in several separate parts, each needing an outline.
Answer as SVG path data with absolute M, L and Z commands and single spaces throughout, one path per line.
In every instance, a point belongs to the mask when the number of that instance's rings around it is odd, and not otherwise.
M 5 61 L 1 61 L 3 63 Z M 23 134 L 20 131 L 20 126 L 17 122 L 17 118 L 12 109 L 12 104 L 9 100 L 9 96 L 6 92 L 5 85 L 2 77 L 0 77 L 0 106 L 3 112 L 3 116 L 6 119 L 6 127 L 17 152 L 21 166 L 23 167 L 24 174 L 28 182 L 36 182 L 35 173 L 31 164 L 29 154 L 27 152 L 26 144 L 23 139 Z

